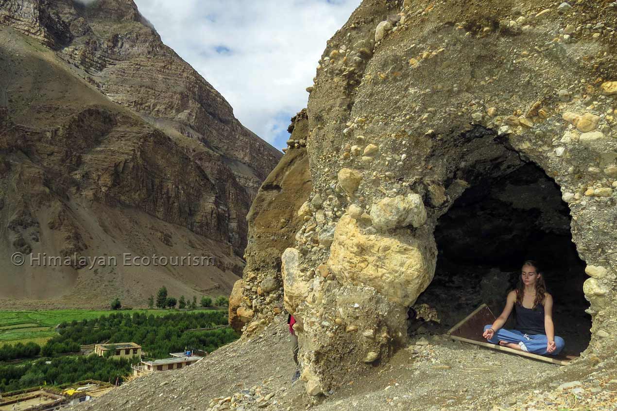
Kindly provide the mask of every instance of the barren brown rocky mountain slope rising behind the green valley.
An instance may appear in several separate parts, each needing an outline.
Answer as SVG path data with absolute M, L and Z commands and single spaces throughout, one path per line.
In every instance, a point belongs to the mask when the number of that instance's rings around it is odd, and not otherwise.
M 2 0 L 0 64 L 4 304 L 143 304 L 163 284 L 175 296 L 231 290 L 246 214 L 282 154 L 132 1 Z M 15 267 L 14 252 L 117 261 Z M 122 267 L 125 253 L 213 258 Z

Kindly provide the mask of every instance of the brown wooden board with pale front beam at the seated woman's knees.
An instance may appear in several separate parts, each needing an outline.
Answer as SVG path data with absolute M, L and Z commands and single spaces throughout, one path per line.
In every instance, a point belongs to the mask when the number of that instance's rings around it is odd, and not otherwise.
M 477 309 L 467 317 L 463 318 L 457 325 L 448 330 L 448 334 L 452 339 L 457 341 L 468 342 L 481 347 L 491 348 L 497 351 L 509 352 L 510 354 L 521 355 L 523 357 L 532 358 L 534 360 L 540 360 L 544 362 L 550 362 L 557 365 L 568 365 L 569 362 L 576 357 L 573 355 L 539 355 L 532 354 L 531 352 L 525 352 L 515 350 L 513 348 L 502 347 L 499 344 L 492 344 L 486 341 L 486 338 L 482 337 L 482 331 L 484 326 L 492 324 L 495 321 L 495 316 L 491 312 L 491 309 L 486 304 L 480 305 Z

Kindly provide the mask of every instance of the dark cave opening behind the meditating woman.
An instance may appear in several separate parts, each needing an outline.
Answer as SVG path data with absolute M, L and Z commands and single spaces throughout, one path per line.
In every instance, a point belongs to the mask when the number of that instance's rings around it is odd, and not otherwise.
M 564 352 L 587 348 L 591 317 L 582 291 L 585 264 L 572 242 L 568 206 L 542 168 L 523 163 L 506 175 L 476 181 L 439 218 L 435 240 L 435 276 L 416 307 L 428 304 L 440 322 L 410 316 L 410 334 L 445 333 L 482 302 L 499 315 L 522 262 L 536 260 L 554 299 L 555 334 L 565 339 Z M 505 327 L 513 326 L 510 315 Z

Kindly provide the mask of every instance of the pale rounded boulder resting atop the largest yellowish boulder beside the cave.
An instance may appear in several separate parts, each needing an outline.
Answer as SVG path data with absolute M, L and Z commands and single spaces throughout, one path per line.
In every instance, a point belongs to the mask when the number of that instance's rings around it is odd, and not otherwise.
M 391 230 L 410 224 L 419 227 L 426 222 L 422 197 L 412 193 L 381 199 L 371 207 L 371 221 L 378 230 Z

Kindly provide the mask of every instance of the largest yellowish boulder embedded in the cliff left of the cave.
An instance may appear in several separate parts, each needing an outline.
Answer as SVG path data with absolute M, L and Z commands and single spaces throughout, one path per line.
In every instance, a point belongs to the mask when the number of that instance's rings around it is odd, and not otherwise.
M 412 305 L 435 272 L 434 241 L 367 235 L 345 214 L 334 231 L 328 268 L 342 284 L 367 285 L 391 302 Z

